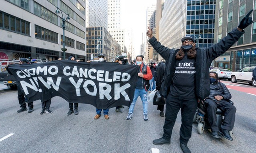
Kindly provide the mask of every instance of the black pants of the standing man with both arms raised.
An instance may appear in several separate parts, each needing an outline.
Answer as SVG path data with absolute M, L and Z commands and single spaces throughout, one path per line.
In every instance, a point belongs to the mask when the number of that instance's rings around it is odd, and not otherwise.
M 177 114 L 181 109 L 180 143 L 187 144 L 191 138 L 193 117 L 196 113 L 196 98 L 181 98 L 171 96 L 166 99 L 165 120 L 163 125 L 163 138 L 170 140 Z

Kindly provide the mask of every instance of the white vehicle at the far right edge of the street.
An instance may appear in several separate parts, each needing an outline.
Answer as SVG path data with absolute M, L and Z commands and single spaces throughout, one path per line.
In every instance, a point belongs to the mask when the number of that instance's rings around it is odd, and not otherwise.
M 245 67 L 240 71 L 231 73 L 231 82 L 248 82 L 250 85 L 256 87 L 256 81 L 252 77 L 252 71 L 256 66 Z

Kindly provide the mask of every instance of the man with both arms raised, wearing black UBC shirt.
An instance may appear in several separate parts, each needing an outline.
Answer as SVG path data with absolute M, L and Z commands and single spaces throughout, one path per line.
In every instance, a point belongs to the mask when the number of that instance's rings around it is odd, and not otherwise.
M 184 153 L 191 153 L 187 143 L 191 138 L 197 101 L 210 94 L 209 67 L 215 58 L 243 36 L 243 29 L 253 22 L 249 17 L 252 11 L 240 21 L 237 28 L 208 48 L 198 48 L 194 37 L 185 36 L 181 39 L 180 49 L 169 49 L 153 37 L 153 30 L 148 27 L 149 43 L 166 61 L 165 80 L 161 87 L 161 94 L 166 97 L 163 137 L 153 140 L 153 144 L 170 144 L 174 123 L 181 109 L 180 148 Z

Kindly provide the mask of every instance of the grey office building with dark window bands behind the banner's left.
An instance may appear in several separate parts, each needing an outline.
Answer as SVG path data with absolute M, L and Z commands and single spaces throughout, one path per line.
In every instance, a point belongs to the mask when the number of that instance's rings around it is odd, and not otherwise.
M 0 54 L 9 59 L 63 58 L 62 18 L 69 14 L 70 20 L 65 20 L 65 56 L 85 60 L 85 6 L 84 0 L 1 0 Z M 60 16 L 55 14 L 57 7 Z

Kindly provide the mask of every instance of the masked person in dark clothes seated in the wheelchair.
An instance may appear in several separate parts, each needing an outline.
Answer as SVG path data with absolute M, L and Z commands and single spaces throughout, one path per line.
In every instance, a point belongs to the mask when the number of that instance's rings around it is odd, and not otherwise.
M 208 122 L 211 126 L 212 137 L 220 138 L 218 135 L 219 128 L 217 125 L 217 108 L 224 111 L 224 122 L 221 125 L 220 132 L 222 136 L 230 141 L 233 138 L 230 136 L 229 131 L 234 127 L 236 108 L 233 102 L 230 102 L 231 94 L 228 88 L 220 82 L 218 74 L 216 72 L 210 72 L 210 95 L 205 99 L 207 104 Z

